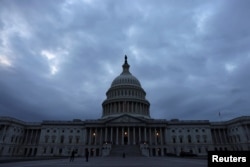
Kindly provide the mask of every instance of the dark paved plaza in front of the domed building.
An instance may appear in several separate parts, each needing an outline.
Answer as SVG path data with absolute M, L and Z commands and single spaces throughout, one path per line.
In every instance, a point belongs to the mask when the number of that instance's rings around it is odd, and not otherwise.
M 86 162 L 84 158 L 76 158 L 73 162 L 69 159 L 40 160 L 25 162 L 9 162 L 0 164 L 1 167 L 206 167 L 205 159 L 188 159 L 173 157 L 97 157 Z

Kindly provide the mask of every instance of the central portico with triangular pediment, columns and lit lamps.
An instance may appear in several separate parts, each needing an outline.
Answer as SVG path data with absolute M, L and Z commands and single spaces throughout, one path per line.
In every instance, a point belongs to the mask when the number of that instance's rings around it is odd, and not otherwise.
M 164 150 L 160 149 L 165 144 L 166 124 L 163 120 L 155 121 L 123 114 L 85 123 L 86 146 L 89 146 L 90 151 L 102 149 L 102 155 L 105 156 L 109 155 L 117 146 L 120 146 L 120 149 L 121 146 L 124 146 L 122 149 L 133 146 L 134 150 L 140 150 L 140 155 L 149 156 L 151 151 L 157 155 L 164 154 Z M 156 153 L 157 151 L 158 153 Z

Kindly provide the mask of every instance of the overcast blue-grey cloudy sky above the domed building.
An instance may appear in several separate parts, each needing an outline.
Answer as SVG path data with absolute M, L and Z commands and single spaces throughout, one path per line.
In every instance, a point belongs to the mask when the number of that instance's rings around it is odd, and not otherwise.
M 249 8 L 248 0 L 1 0 L 0 116 L 98 119 L 125 54 L 152 118 L 250 115 Z

